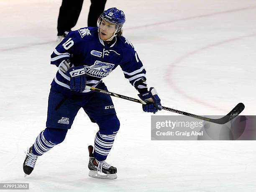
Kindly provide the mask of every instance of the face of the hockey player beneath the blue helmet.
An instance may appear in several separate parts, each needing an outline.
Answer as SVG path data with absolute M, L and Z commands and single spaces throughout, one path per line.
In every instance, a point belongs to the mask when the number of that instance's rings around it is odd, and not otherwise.
M 102 39 L 103 41 L 108 40 L 114 35 L 115 30 L 115 24 L 102 20 L 102 22 L 100 23 L 100 39 Z M 112 39 L 113 38 L 111 38 L 110 40 Z

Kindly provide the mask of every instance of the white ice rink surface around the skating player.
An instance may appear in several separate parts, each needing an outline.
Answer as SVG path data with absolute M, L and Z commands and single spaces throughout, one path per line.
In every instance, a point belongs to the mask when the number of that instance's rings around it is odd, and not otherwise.
M 254 192 L 254 141 L 151 141 L 151 114 L 113 98 L 121 123 L 107 162 L 118 179 L 88 177 L 87 146 L 97 125 L 79 111 L 60 145 L 24 178 L 24 151 L 45 129 L 56 66 L 61 0 L 0 0 L 0 183 L 31 192 Z M 87 25 L 89 0 L 75 29 Z M 162 105 L 198 115 L 225 115 L 238 102 L 256 115 L 256 0 L 108 0 L 125 12 L 133 42 Z M 120 67 L 103 80 L 130 97 Z M 174 115 L 161 111 L 156 115 Z

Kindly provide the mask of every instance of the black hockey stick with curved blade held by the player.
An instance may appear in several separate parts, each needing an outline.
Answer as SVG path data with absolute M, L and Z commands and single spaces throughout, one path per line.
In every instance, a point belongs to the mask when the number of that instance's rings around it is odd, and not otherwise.
M 95 87 L 86 86 L 85 89 L 95 91 L 95 92 L 100 92 L 102 94 L 110 95 L 110 96 L 113 96 L 113 97 L 119 97 L 119 98 L 122 98 L 122 99 L 125 99 L 125 100 L 130 100 L 130 101 L 141 103 L 141 104 L 146 104 L 146 102 L 144 102 L 142 100 L 134 99 L 132 97 L 127 97 L 127 96 L 124 96 L 124 95 L 120 95 L 120 94 L 105 91 L 105 90 L 101 90 L 101 89 L 98 89 L 98 88 L 95 88 Z M 236 105 L 236 107 L 233 108 L 233 110 L 231 110 L 227 115 L 225 115 L 224 117 L 221 117 L 220 119 L 211 119 L 211 118 L 207 118 L 207 117 L 202 117 L 202 116 L 199 116 L 199 115 L 194 115 L 192 113 L 179 111 L 179 110 L 175 110 L 175 109 L 172 109 L 172 108 L 169 108 L 169 107 L 164 107 L 164 106 L 162 106 L 162 109 L 166 110 L 166 111 L 179 113 L 179 114 L 182 114 L 182 115 L 187 115 L 189 117 L 194 117 L 194 118 L 197 118 L 197 119 L 200 119 L 200 120 L 214 122 L 214 123 L 217 123 L 217 124 L 225 124 L 226 122 L 229 122 L 230 120 L 232 120 L 233 118 L 238 116 L 243 111 L 244 105 L 243 105 L 243 103 L 238 103 Z

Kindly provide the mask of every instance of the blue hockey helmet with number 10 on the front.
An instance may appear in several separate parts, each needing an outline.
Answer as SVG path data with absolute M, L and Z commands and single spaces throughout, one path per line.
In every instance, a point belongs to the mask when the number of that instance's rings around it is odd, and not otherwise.
M 103 13 L 100 15 L 97 22 L 98 27 L 100 27 L 102 20 L 115 24 L 117 33 L 122 29 L 123 24 L 125 23 L 125 14 L 122 10 L 118 10 L 116 7 L 112 7 L 103 11 Z

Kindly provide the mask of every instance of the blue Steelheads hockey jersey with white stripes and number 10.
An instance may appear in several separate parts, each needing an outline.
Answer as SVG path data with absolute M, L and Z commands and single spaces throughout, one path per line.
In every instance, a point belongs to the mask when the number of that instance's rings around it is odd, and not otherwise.
M 70 31 L 51 54 L 51 64 L 59 67 L 61 62 L 69 59 L 73 66 L 84 65 L 87 85 L 91 87 L 96 87 L 102 78 L 120 65 L 125 78 L 134 86 L 136 81 L 145 78 L 146 70 L 131 42 L 123 36 L 114 38 L 111 43 L 103 42 L 97 27 Z M 64 95 L 86 95 L 90 92 L 73 92 L 69 84 L 70 78 L 59 69 L 51 83 L 59 92 Z

